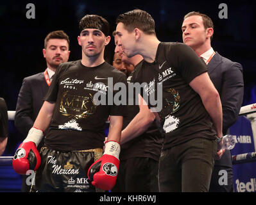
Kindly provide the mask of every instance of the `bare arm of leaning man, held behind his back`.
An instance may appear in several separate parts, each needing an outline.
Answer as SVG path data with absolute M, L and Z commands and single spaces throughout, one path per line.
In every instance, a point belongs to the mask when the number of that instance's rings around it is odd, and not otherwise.
M 197 92 L 205 109 L 208 111 L 218 137 L 222 136 L 222 107 L 218 91 L 214 87 L 207 72 L 192 79 L 189 85 Z

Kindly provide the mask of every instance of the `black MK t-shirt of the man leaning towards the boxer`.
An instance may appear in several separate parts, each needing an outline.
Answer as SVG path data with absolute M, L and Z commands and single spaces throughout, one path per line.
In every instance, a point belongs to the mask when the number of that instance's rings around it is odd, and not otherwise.
M 141 83 L 148 83 L 143 97 L 157 99 L 157 84 L 162 85 L 162 96 L 157 103 L 159 105 L 162 100 L 158 114 L 166 136 L 163 149 L 196 137 L 215 138 L 210 115 L 200 95 L 189 86 L 192 79 L 204 72 L 207 72 L 207 66 L 191 47 L 175 42 L 161 42 L 155 61 L 142 64 Z

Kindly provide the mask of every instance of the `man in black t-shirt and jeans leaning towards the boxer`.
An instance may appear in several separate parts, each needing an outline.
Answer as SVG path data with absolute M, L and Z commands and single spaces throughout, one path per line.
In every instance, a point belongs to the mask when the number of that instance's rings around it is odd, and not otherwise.
M 123 13 L 116 23 L 126 56 L 144 58 L 140 79 L 148 83 L 145 96 L 162 95 L 162 109 L 156 113 L 165 135 L 158 172 L 160 192 L 207 192 L 214 157 L 222 155 L 222 150 L 217 152 L 222 110 L 205 63 L 185 44 L 160 42 L 155 22 L 145 11 Z M 155 111 L 153 103 L 149 106 Z

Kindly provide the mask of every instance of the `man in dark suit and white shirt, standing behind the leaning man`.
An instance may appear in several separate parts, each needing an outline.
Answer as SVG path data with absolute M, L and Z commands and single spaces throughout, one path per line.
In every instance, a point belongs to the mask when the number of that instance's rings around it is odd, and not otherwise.
M 214 25 L 205 14 L 190 12 L 183 18 L 182 38 L 202 58 L 208 67 L 212 83 L 219 92 L 223 109 L 223 135 L 237 120 L 243 102 L 243 68 L 215 52 L 211 47 Z M 219 172 L 226 170 L 226 172 Z M 221 180 L 227 173 L 227 180 Z M 225 177 L 225 176 L 224 176 Z M 232 158 L 226 150 L 220 160 L 215 161 L 209 192 L 233 192 Z

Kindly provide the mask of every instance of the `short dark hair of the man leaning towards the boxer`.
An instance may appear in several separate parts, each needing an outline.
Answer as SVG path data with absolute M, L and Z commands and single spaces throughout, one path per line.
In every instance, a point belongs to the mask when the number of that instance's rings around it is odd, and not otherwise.
M 116 24 L 122 22 L 124 28 L 127 29 L 128 32 L 132 32 L 133 29 L 139 28 L 148 35 L 155 35 L 155 20 L 148 12 L 140 9 L 120 14 L 115 22 Z

